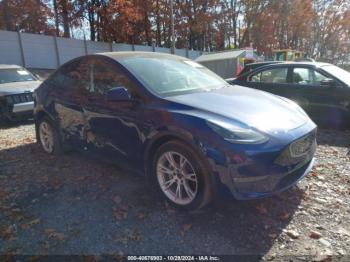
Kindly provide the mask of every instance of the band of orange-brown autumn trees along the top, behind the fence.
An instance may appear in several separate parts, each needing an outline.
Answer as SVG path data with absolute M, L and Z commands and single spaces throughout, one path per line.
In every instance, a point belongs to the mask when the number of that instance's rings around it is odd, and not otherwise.
M 173 0 L 177 48 L 302 50 L 345 59 L 347 0 Z M 170 0 L 3 0 L 0 29 L 130 44 L 171 42 Z M 80 32 L 80 34 L 78 34 Z

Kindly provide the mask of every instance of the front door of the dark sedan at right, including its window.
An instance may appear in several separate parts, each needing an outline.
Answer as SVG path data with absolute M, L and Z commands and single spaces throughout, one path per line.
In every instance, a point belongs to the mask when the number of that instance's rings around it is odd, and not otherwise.
M 300 104 L 316 123 L 338 127 L 348 121 L 349 92 L 342 83 L 314 66 L 294 66 L 291 76 L 290 89 L 297 90 L 301 96 L 291 94 L 290 98 Z M 321 85 L 325 79 L 333 79 L 335 85 Z

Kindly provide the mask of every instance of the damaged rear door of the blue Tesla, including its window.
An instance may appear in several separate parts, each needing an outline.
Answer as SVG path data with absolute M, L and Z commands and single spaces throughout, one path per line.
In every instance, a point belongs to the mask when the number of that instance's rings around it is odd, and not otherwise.
M 61 67 L 45 83 L 52 86 L 47 97 L 54 101 L 48 108 L 57 118 L 61 137 L 77 149 L 85 146 L 83 105 L 87 99 L 88 71 L 85 59 L 79 58 Z

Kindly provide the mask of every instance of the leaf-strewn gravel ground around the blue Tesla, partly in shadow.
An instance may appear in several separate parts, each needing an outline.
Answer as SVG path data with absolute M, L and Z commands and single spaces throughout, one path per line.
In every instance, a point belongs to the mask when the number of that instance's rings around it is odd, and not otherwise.
M 45 154 L 30 122 L 0 127 L 0 254 L 350 255 L 350 132 L 320 130 L 318 142 L 287 192 L 186 213 L 131 171 Z

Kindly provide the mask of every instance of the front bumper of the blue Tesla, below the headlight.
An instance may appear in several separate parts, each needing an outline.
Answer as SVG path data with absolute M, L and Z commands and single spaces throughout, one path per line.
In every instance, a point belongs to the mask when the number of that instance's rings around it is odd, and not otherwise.
M 303 141 L 308 142 L 307 148 L 299 152 L 295 145 L 300 147 Z M 218 186 L 238 200 L 263 198 L 287 190 L 308 174 L 315 161 L 316 129 L 283 146 L 247 149 L 226 144 L 224 150 L 221 146 L 221 150 L 206 151 Z

